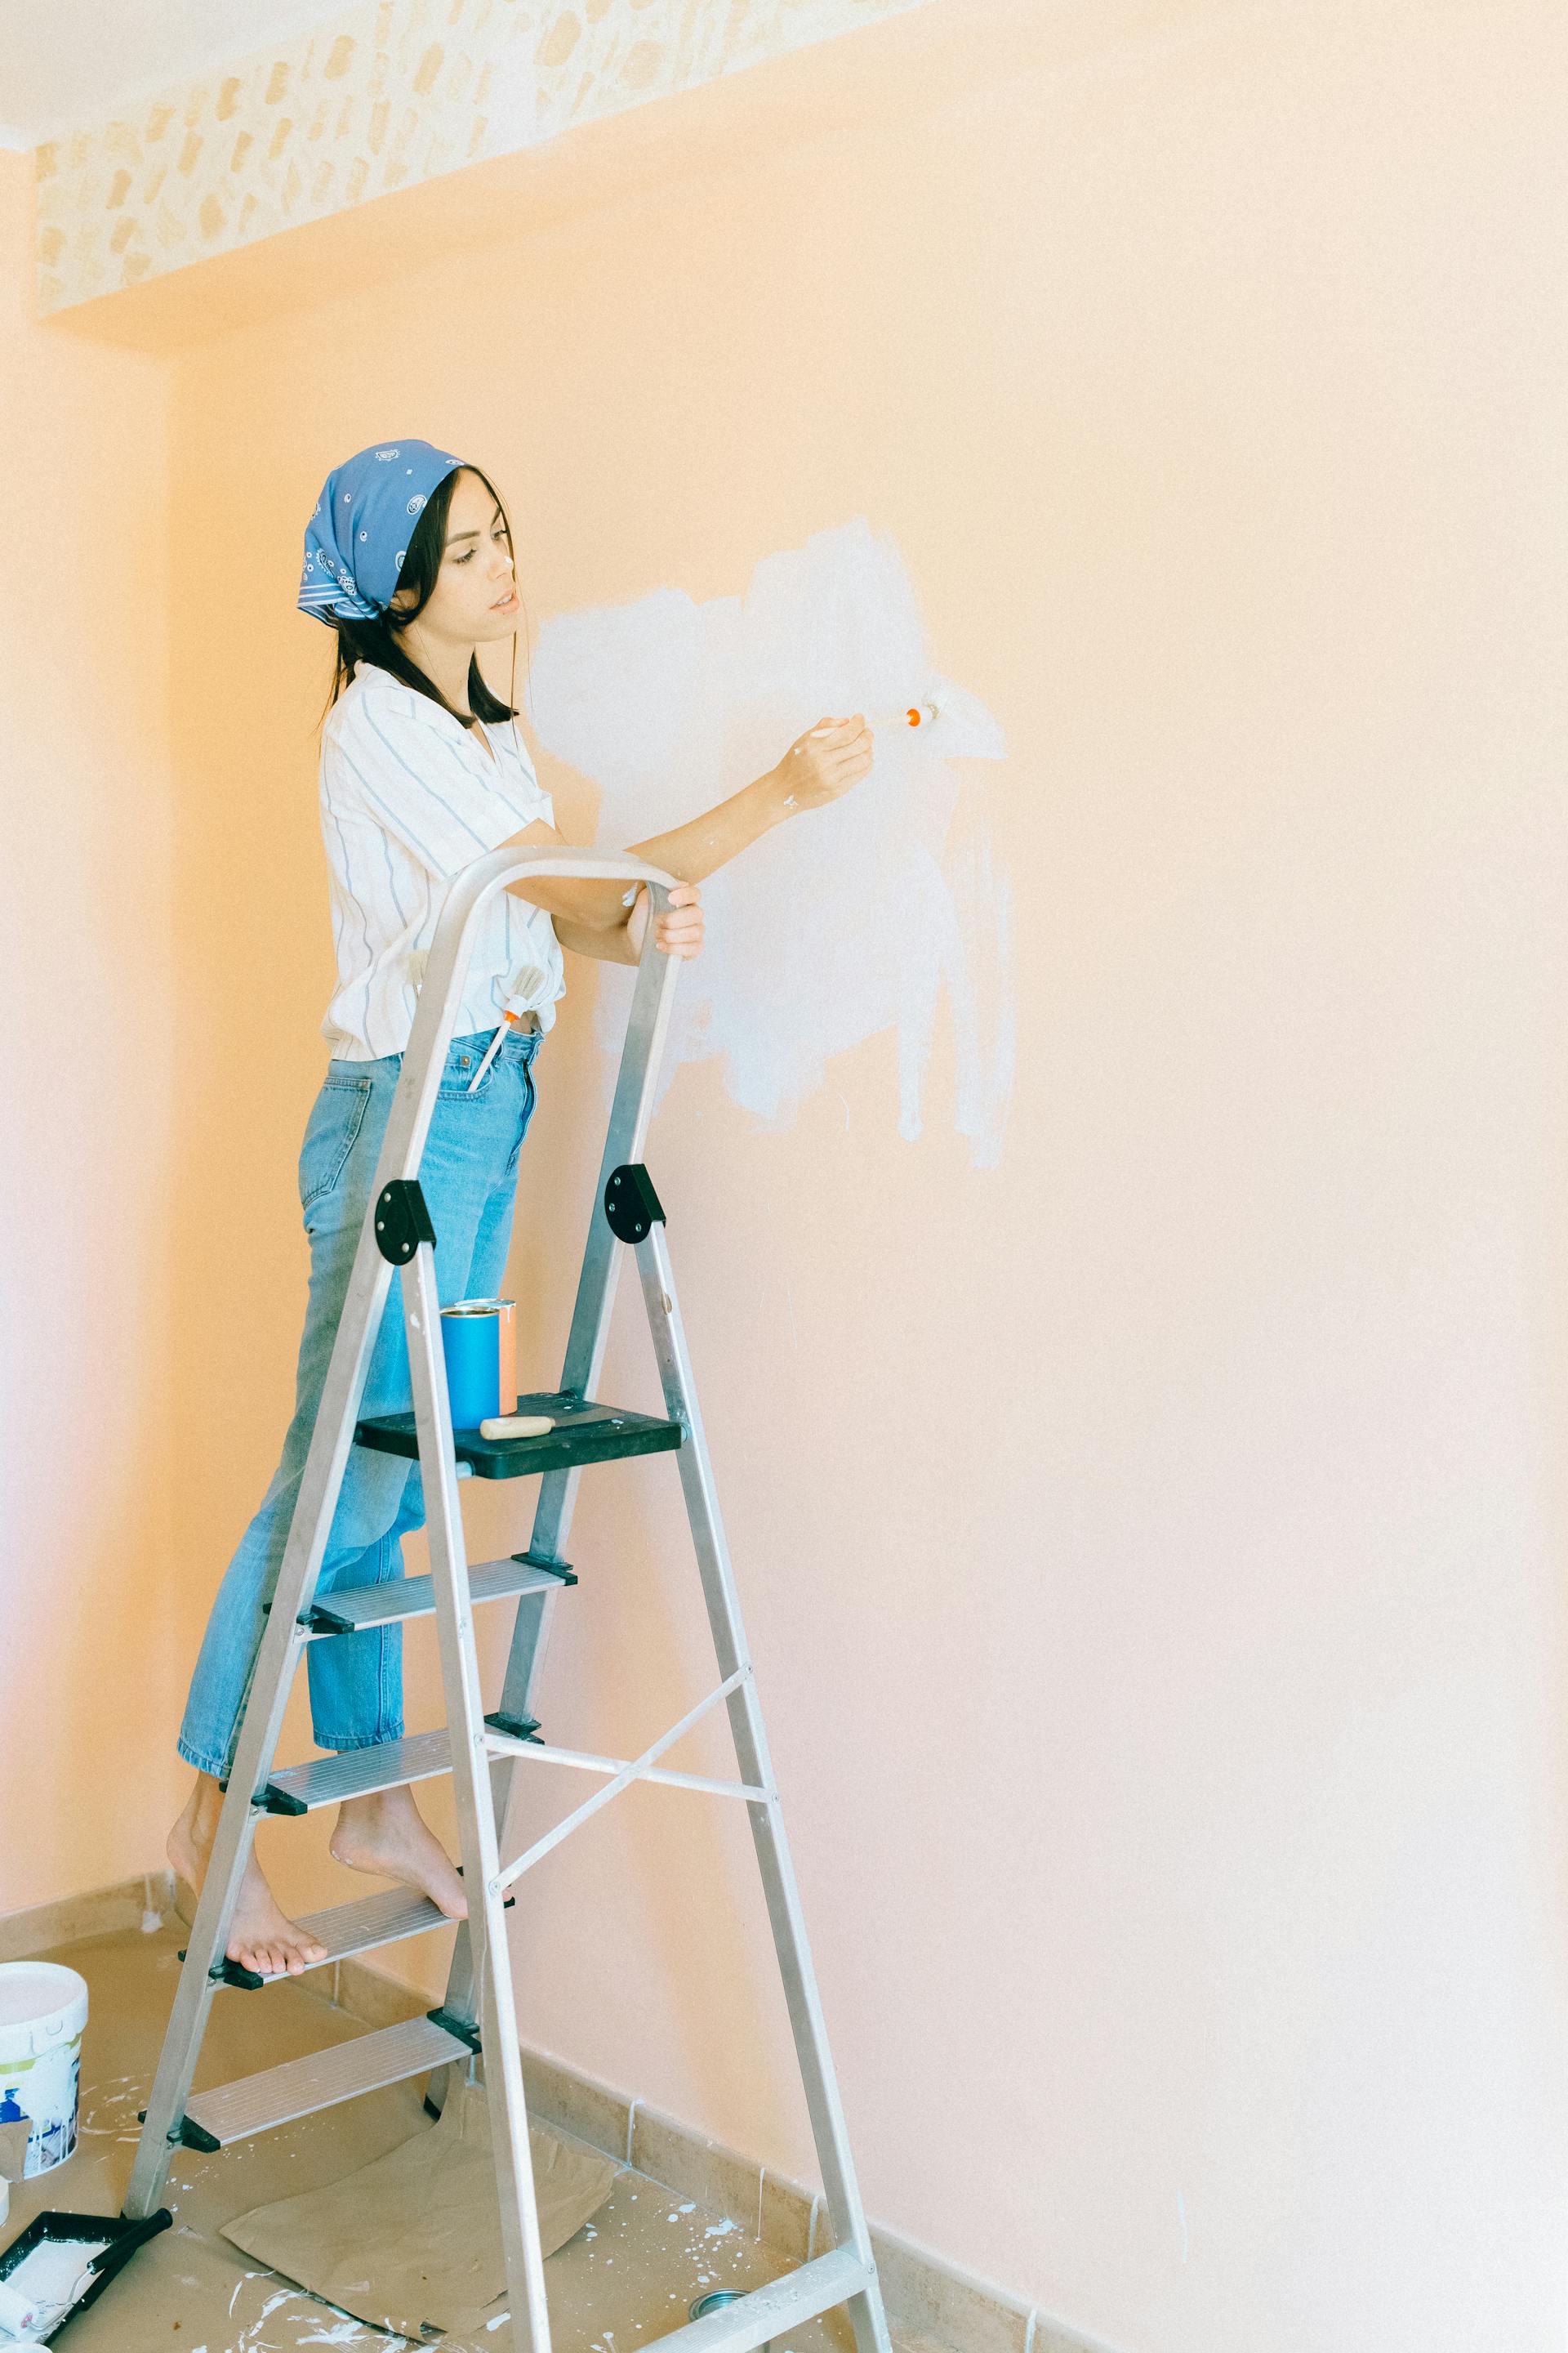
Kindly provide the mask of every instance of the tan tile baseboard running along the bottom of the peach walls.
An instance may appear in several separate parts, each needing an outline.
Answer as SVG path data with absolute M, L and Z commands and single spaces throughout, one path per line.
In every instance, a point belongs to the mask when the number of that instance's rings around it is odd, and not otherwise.
M 24 1960 L 85 1937 L 190 1922 L 193 1899 L 172 1871 L 150 1871 L 115 1887 L 94 1887 L 56 1904 L 35 1904 L 0 1918 L 0 1960 Z M 308 1969 L 299 1991 L 346 2009 L 362 2026 L 393 2026 L 421 2017 L 430 2002 L 369 1960 L 336 1960 Z M 757 2158 L 710 2141 L 693 2125 L 663 2115 L 614 2085 L 597 2082 L 552 2052 L 522 2052 L 529 2108 L 578 2141 L 635 2165 L 668 2191 L 726 2214 L 755 2238 L 799 2264 L 825 2254 L 832 2226 L 820 2191 L 790 2181 Z M 889 2327 L 905 2353 L 1117 2353 L 1041 2313 L 1025 2297 L 980 2280 L 931 2247 L 872 2221 L 872 2247 Z

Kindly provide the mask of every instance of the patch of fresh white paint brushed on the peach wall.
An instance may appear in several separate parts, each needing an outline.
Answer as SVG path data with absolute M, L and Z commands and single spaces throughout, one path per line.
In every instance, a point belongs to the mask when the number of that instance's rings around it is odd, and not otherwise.
M 783 1127 L 827 1061 L 882 1031 L 898 1045 L 898 1132 L 919 1136 L 945 993 L 954 1125 L 994 1167 L 1013 1082 L 1011 896 L 980 788 L 952 758 L 1006 758 L 990 711 L 931 668 L 903 558 L 865 520 L 766 555 L 741 598 L 658 588 L 545 621 L 529 715 L 545 751 L 599 786 L 618 849 L 696 816 L 773 767 L 823 715 L 933 701 L 936 722 L 877 727 L 870 774 L 766 833 L 703 885 L 708 941 L 682 974 L 677 1061 L 722 1056 L 736 1104 Z M 625 1033 L 630 969 L 604 967 L 599 1040 Z

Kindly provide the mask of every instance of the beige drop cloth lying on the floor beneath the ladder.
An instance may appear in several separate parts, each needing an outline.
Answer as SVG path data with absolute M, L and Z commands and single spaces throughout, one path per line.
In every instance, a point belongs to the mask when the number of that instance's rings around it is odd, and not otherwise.
M 564 2247 L 621 2165 L 531 2127 L 538 2235 Z M 505 2301 L 496 2167 L 482 2085 L 454 2085 L 440 2122 L 357 2174 L 223 2224 L 244 2254 L 400 2337 L 468 2334 Z

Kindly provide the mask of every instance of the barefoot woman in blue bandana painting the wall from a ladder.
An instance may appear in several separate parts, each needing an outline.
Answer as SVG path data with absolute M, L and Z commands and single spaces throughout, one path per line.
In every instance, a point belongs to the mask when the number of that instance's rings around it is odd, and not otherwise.
M 179 1753 L 195 1788 L 169 1833 L 174 1871 L 200 1889 L 221 1779 L 289 1537 L 339 1313 L 381 1153 L 423 960 L 447 887 L 501 845 L 564 847 L 517 734 L 512 699 L 480 673 L 477 649 L 512 638 L 512 534 L 489 478 L 423 440 L 360 449 L 327 475 L 306 527 L 299 605 L 336 631 L 322 725 L 320 805 L 339 984 L 322 1021 L 327 1078 L 306 1122 L 299 1198 L 310 1238 L 310 1299 L 294 1419 L 273 1482 L 219 1586 L 190 1680 Z M 510 722 L 510 725 L 508 725 Z M 785 816 L 846 793 L 872 762 L 863 718 L 820 720 L 778 767 L 715 809 L 632 842 L 679 875 L 656 922 L 665 955 L 696 955 L 696 885 Z M 562 948 L 632 965 L 649 896 L 628 908 L 614 882 L 520 880 L 494 896 L 447 1049 L 421 1162 L 435 1221 L 442 1301 L 491 1297 L 503 1280 L 517 1153 L 534 1111 L 534 1061 L 564 993 Z M 397 1292 L 371 1348 L 362 1414 L 411 1405 Z M 400 1539 L 423 1525 L 418 1464 L 350 1447 L 317 1591 L 402 1574 Z M 308 1649 L 320 1748 L 402 1737 L 402 1628 L 334 1635 Z M 428 1894 L 451 1920 L 463 1882 L 414 1793 L 339 1807 L 331 1852 L 353 1871 Z M 324 1948 L 284 1918 L 252 1854 L 228 1955 L 263 1977 L 299 1974 Z

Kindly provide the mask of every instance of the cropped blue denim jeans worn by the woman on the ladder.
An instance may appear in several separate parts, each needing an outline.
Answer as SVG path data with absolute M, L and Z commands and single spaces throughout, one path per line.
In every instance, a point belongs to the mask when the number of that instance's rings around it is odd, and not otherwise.
M 451 1040 L 418 1169 L 435 1224 L 435 1287 L 442 1306 L 494 1297 L 512 1238 L 517 1153 L 534 1113 L 538 1033 L 508 1033 L 484 1080 L 468 1094 L 487 1045 L 489 1033 Z M 273 1485 L 212 1605 L 179 1729 L 186 1762 L 216 1779 L 226 1779 L 233 1762 L 237 1718 L 266 1626 L 261 1605 L 273 1595 L 289 1539 L 400 1068 L 402 1054 L 327 1064 L 306 1122 L 299 1200 L 310 1235 L 310 1304 L 299 1344 L 294 1419 Z M 402 1282 L 393 1275 L 360 1414 L 407 1414 L 411 1405 Z M 400 1577 L 400 1539 L 407 1529 L 423 1527 L 423 1520 L 418 1464 L 350 1447 L 317 1591 Z M 322 1635 L 308 1649 L 308 1678 L 310 1725 L 320 1748 L 369 1748 L 402 1737 L 402 1626 Z

